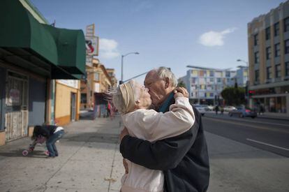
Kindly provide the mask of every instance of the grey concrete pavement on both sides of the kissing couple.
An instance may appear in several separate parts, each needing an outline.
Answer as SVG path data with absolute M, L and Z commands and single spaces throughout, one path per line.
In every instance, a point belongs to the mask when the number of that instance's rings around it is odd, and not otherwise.
M 119 191 L 120 118 L 81 120 L 65 127 L 59 157 L 31 156 L 22 138 L 0 147 L 0 191 Z M 206 133 L 211 179 L 208 191 L 287 191 L 289 158 Z

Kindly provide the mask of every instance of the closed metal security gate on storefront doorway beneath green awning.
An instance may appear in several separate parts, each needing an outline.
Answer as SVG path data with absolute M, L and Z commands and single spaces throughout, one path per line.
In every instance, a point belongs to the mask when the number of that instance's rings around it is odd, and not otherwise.
M 36 93 L 37 94 L 37 93 Z M 6 83 L 6 141 L 27 135 L 28 77 L 8 71 Z

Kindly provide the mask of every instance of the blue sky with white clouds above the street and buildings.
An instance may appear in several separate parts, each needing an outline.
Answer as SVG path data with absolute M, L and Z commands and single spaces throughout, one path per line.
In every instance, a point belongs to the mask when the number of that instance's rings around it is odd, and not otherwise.
M 247 24 L 284 0 L 30 0 L 55 27 L 95 24 L 98 59 L 124 80 L 166 66 L 176 77 L 186 66 L 232 68 L 248 61 Z M 143 82 L 144 75 L 136 78 Z

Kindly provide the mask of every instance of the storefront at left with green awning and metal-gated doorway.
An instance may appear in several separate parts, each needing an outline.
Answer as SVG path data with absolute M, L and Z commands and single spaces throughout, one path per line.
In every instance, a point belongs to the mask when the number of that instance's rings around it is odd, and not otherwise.
M 42 24 L 18 0 L 0 1 L 0 145 L 53 123 L 56 79 L 85 73 L 82 30 Z M 51 105 L 52 104 L 52 105 Z

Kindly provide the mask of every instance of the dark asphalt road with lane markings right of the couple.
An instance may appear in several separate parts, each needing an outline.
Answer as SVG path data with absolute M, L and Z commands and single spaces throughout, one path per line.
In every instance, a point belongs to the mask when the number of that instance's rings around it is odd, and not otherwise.
M 251 117 L 229 117 L 207 113 L 205 131 L 289 157 L 289 121 Z

